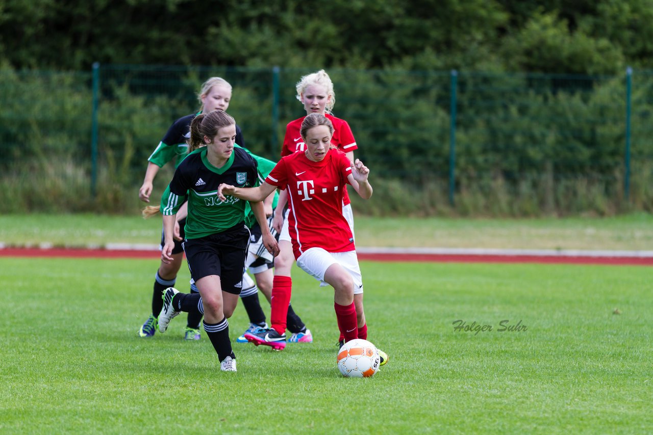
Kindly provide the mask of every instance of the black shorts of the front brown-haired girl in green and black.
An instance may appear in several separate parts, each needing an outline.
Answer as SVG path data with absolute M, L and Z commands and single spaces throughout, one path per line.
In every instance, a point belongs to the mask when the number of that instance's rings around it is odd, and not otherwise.
M 221 233 L 183 242 L 188 269 L 195 282 L 217 275 L 223 292 L 239 295 L 249 246 L 249 228 L 244 223 Z

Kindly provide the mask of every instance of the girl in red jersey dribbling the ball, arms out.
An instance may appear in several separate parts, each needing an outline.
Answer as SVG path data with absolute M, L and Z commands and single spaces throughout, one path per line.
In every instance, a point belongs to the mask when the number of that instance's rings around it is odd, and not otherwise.
M 311 113 L 300 128 L 303 153 L 281 158 L 261 186 L 220 185 L 217 196 L 222 201 L 227 196 L 260 201 L 276 187 L 287 192 L 289 234 L 297 265 L 321 286 L 334 288 L 338 328 L 345 340 L 353 340 L 367 337 L 367 325 L 358 322 L 354 304 L 355 290 L 362 290 L 362 278 L 342 200 L 347 184 L 364 199 L 372 196 L 372 186 L 368 182 L 370 170 L 358 159 L 352 164 L 345 153 L 333 147 L 333 134 L 334 127 L 325 115 Z M 263 329 L 245 337 L 255 344 L 285 348 L 285 329 Z M 381 351 L 379 354 L 383 365 L 388 357 Z

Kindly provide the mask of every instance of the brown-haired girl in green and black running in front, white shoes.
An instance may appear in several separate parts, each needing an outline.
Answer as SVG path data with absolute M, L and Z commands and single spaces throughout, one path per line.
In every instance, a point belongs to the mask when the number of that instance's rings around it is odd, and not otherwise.
M 190 153 L 177 167 L 161 198 L 165 244 L 161 261 L 174 260 L 176 213 L 187 200 L 185 241 L 182 243 L 188 267 L 201 295 L 179 293 L 168 288 L 159 314 L 159 331 L 180 311 L 198 307 L 204 314 L 204 330 L 217 352 L 220 368 L 236 371 L 236 357 L 229 340 L 229 322 L 242 290 L 243 265 L 249 243 L 246 202 L 220 202 L 217 187 L 229 183 L 255 187 L 261 183 L 257 162 L 241 148 L 234 147 L 236 123 L 220 110 L 200 114 L 191 123 Z M 200 145 L 206 146 L 200 147 Z M 262 202 L 249 203 L 263 231 L 263 243 L 276 256 L 279 245 L 270 233 Z M 251 222 L 250 222 L 251 224 Z

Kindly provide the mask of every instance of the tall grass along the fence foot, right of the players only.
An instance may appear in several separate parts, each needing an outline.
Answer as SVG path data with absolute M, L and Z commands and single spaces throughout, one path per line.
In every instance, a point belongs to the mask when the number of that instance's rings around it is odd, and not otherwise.
M 376 174 L 374 174 L 376 175 Z M 629 200 L 623 177 L 553 177 L 530 174 L 508 181 L 496 174 L 456 180 L 454 204 L 449 181 L 429 179 L 413 185 L 396 179 L 371 177 L 374 196 L 362 201 L 351 195 L 355 211 L 372 216 L 412 217 L 547 217 L 614 216 L 653 207 L 653 171 L 633 177 Z

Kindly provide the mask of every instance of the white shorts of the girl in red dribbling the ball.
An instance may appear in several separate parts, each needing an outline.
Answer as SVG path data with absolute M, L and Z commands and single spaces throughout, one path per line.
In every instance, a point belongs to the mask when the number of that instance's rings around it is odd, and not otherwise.
M 354 294 L 363 292 L 363 280 L 360 276 L 360 266 L 355 250 L 347 252 L 327 252 L 323 248 L 310 248 L 297 259 L 297 265 L 302 271 L 320 282 L 320 287 L 328 286 L 324 281 L 325 273 L 330 265 L 338 263 L 349 272 L 354 280 Z

